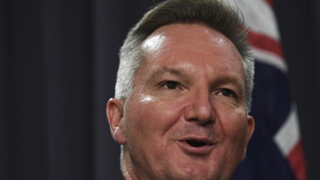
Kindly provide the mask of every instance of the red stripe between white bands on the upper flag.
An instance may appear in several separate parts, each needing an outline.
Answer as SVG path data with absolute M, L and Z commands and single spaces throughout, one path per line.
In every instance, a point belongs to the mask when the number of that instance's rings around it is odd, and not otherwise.
M 281 44 L 267 35 L 249 31 L 248 41 L 253 47 L 270 51 L 283 58 Z

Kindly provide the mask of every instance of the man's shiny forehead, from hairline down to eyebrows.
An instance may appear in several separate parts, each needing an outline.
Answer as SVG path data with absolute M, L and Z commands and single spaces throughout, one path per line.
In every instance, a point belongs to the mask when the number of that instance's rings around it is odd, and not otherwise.
M 169 66 L 195 72 L 243 74 L 242 58 L 234 44 L 222 33 L 203 25 L 160 27 L 142 43 L 142 49 L 142 66 L 147 65 L 148 71 Z

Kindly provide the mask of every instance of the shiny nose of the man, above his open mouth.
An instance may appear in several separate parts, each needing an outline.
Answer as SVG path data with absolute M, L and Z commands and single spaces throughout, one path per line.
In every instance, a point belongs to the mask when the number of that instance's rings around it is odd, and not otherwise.
M 185 109 L 187 121 L 197 121 L 201 125 L 212 124 L 215 121 L 214 109 L 208 90 L 196 90 L 188 97 Z

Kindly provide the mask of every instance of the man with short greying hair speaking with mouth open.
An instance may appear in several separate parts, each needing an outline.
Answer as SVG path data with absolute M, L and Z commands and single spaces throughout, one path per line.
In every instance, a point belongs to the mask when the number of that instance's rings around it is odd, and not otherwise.
M 254 131 L 254 61 L 237 10 L 168 0 L 120 50 L 107 117 L 126 180 L 228 180 Z

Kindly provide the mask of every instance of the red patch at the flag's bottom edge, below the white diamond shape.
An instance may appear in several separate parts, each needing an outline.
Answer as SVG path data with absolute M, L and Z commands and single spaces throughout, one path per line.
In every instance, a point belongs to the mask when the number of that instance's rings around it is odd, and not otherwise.
M 289 152 L 287 160 L 293 169 L 297 180 L 307 180 L 306 163 L 304 161 L 303 149 L 300 141 Z

